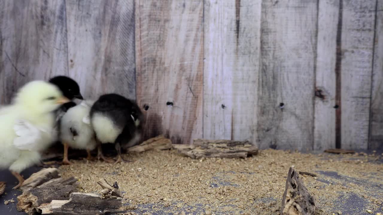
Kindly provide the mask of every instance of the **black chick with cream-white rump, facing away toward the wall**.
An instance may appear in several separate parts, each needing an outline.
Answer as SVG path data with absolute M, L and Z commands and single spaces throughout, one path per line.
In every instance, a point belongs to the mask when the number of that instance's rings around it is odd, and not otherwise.
M 98 98 L 90 109 L 90 121 L 98 140 L 98 158 L 107 160 L 101 151 L 102 143 L 114 143 L 121 157 L 121 147 L 136 145 L 141 138 L 142 112 L 135 101 L 119 94 L 104 94 Z

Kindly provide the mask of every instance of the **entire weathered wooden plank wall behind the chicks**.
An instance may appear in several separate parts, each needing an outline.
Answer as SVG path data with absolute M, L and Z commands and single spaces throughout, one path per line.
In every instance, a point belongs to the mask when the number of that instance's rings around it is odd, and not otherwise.
M 383 147 L 382 0 L 0 0 L 0 102 L 63 74 L 145 137 Z M 136 47 L 136 48 L 135 48 Z

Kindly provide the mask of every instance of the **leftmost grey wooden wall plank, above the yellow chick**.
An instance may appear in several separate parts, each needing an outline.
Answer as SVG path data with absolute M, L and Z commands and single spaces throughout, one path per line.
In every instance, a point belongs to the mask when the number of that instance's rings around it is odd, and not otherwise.
M 26 82 L 67 75 L 65 0 L 0 1 L 0 103 Z

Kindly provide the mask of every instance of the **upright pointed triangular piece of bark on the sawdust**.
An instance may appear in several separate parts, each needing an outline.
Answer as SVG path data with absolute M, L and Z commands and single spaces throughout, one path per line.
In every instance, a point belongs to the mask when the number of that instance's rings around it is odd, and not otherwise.
M 308 192 L 295 169 L 290 167 L 280 214 L 313 215 L 315 210 L 315 197 Z

